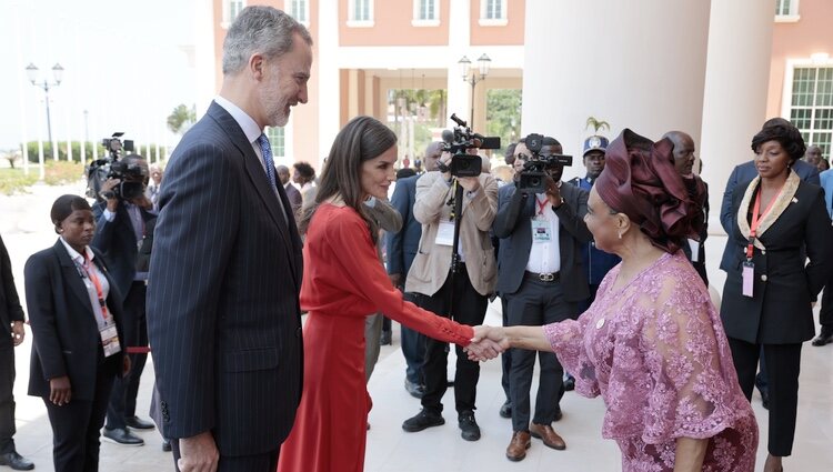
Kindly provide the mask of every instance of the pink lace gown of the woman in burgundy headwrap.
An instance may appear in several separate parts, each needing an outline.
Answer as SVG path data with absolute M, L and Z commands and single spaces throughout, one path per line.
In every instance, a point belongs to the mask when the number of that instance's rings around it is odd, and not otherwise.
M 678 438 L 710 438 L 703 471 L 752 472 L 757 423 L 700 277 L 681 251 L 614 291 L 620 268 L 586 312 L 544 334 L 575 390 L 604 399 L 602 436 L 622 470 L 673 471 Z

